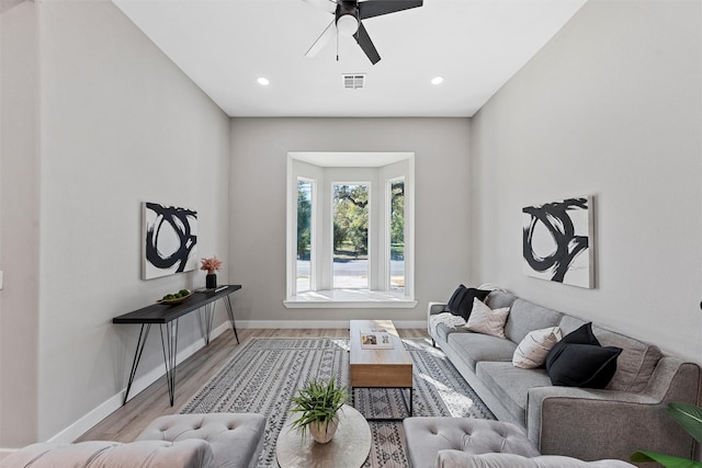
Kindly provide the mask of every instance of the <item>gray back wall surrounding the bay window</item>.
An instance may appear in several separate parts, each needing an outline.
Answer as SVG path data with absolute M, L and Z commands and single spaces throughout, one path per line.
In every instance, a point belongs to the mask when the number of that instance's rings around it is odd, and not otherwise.
M 237 319 L 274 327 L 378 316 L 424 320 L 427 301 L 448 298 L 468 281 L 468 129 L 467 118 L 233 118 L 229 274 L 244 285 Z M 415 151 L 415 309 L 283 306 L 287 151 L 325 150 Z

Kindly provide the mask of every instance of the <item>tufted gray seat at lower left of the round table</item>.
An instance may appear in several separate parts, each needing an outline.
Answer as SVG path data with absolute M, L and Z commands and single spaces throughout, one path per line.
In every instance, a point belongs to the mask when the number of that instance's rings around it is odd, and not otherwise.
M 263 446 L 265 418 L 254 413 L 172 414 L 155 419 L 135 441 L 206 441 L 213 467 L 252 468 Z

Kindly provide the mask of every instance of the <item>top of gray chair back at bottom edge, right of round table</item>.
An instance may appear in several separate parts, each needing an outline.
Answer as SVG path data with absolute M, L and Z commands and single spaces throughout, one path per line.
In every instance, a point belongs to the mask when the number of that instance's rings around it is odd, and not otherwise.
M 461 450 L 441 450 L 434 468 L 629 468 L 622 460 L 582 461 L 577 458 L 542 456 L 528 458 L 513 454 L 469 455 Z

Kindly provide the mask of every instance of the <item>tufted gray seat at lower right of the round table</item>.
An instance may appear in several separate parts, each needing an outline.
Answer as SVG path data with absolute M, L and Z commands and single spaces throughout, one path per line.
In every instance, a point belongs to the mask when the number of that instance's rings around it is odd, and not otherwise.
M 514 424 L 469 418 L 407 418 L 405 438 L 412 468 L 433 468 L 440 450 L 461 450 L 471 455 L 541 455 Z

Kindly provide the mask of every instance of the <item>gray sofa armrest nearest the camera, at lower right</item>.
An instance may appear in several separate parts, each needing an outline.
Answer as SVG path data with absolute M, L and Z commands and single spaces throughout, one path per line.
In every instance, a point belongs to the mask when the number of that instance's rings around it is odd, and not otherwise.
M 544 455 L 629 459 L 641 449 L 691 457 L 694 442 L 668 415 L 669 401 L 695 403 L 699 367 L 664 357 L 639 393 L 571 387 L 529 390 L 526 433 Z M 587 441 L 584 444 L 582 441 Z

